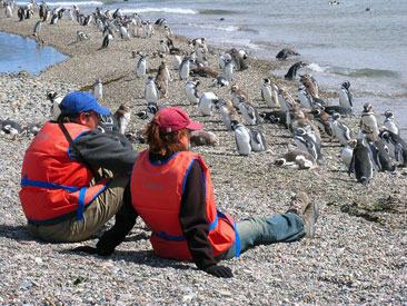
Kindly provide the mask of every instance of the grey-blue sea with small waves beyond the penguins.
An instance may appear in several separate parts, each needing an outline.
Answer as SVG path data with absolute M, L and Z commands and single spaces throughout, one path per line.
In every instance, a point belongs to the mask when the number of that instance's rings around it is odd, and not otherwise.
M 18 2 L 24 3 L 24 2 Z M 296 61 L 306 61 L 300 73 L 311 73 L 325 90 L 338 91 L 350 81 L 356 111 L 371 102 L 378 115 L 395 111 L 407 128 L 407 1 L 340 0 L 128 0 L 47 1 L 50 7 L 82 12 L 97 7 L 121 8 L 155 22 L 166 18 L 176 33 L 206 37 L 209 45 L 244 48 L 250 56 L 276 61 L 282 48 L 301 56 L 289 58 L 284 76 Z M 241 85 L 244 87 L 244 85 Z M 261 85 L 259 85 L 260 88 Z M 331 100 L 331 103 L 338 103 Z M 383 117 L 380 118 L 383 119 Z

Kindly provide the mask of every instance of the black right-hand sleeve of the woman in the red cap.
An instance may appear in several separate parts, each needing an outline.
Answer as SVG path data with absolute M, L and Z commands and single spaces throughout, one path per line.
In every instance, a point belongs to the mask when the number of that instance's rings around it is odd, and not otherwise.
M 187 238 L 189 251 L 199 269 L 217 264 L 212 246 L 208 240 L 209 220 L 205 200 L 205 181 L 202 169 L 195 160 L 187 177 L 181 198 L 179 221 Z

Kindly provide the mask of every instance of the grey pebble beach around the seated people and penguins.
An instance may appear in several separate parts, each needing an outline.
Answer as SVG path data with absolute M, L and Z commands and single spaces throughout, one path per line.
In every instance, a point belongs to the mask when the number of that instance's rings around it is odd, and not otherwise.
M 19 22 L 0 11 L 0 32 L 31 37 L 38 21 Z M 170 26 L 170 24 L 169 24 Z M 77 31 L 89 39 L 77 41 Z M 107 49 L 98 50 L 102 34 L 95 26 L 79 26 L 66 18 L 57 24 L 42 24 L 44 45 L 69 58 L 39 75 L 3 73 L 0 76 L 0 119 L 22 126 L 50 120 L 49 90 L 66 95 L 89 90 L 96 79 L 103 82 L 101 105 L 112 112 L 122 102 L 131 109 L 128 130 L 142 129 L 146 120 L 136 113 L 146 108 L 146 78 L 136 78 L 133 51 L 148 57 L 148 76 L 156 76 L 161 62 L 153 57 L 162 30 L 149 38 L 115 38 Z M 206 38 L 210 46 L 210 38 Z M 189 50 L 188 40 L 175 37 L 177 48 Z M 281 46 L 281 49 L 284 47 Z M 210 48 L 214 53 L 219 50 Z M 209 66 L 221 72 L 217 56 Z M 292 60 L 292 63 L 296 60 Z M 261 100 L 262 79 L 270 78 L 296 97 L 298 81 L 275 77 L 279 62 L 248 60 L 249 68 L 237 71 L 232 83 L 242 88 L 259 111 L 269 110 Z M 222 264 L 234 278 L 215 278 L 192 263 L 162 259 L 153 255 L 149 229 L 138 220 L 123 244 L 110 257 L 75 254 L 81 245 L 95 246 L 95 238 L 80 244 L 48 244 L 33 239 L 26 228 L 18 193 L 24 151 L 33 136 L 0 137 L 0 305 L 407 305 L 407 171 L 375 172 L 364 186 L 348 177 L 339 159 L 340 145 L 324 141 L 325 162 L 312 170 L 277 168 L 276 158 L 295 147 L 288 130 L 264 122 L 260 129 L 268 145 L 266 152 L 247 157 L 236 150 L 234 132 L 227 131 L 220 113 L 200 115 L 185 95 L 185 80 L 172 70 L 169 102 L 187 110 L 192 120 L 214 132 L 215 147 L 191 150 L 209 166 L 219 210 L 236 220 L 245 217 L 285 213 L 291 194 L 305 191 L 320 207 L 315 239 L 292 244 L 258 246 Z M 199 92 L 214 91 L 230 99 L 230 86 L 211 87 L 211 78 L 200 78 Z M 337 92 L 324 91 L 322 98 L 337 99 Z M 358 97 L 355 97 L 357 100 Z M 361 108 L 345 118 L 358 132 Z M 405 137 L 405 136 L 404 136 Z M 133 144 L 136 150 L 147 145 Z

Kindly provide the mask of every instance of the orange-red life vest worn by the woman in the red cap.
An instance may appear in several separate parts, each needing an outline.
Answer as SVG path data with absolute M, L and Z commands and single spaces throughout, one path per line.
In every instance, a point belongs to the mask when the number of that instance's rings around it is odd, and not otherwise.
M 236 241 L 236 256 L 240 254 L 239 237 L 231 216 L 217 210 L 212 181 L 208 166 L 201 157 L 180 151 L 166 162 L 149 160 L 149 151 L 142 151 L 131 174 L 131 203 L 152 234 L 150 241 L 155 253 L 166 258 L 192 260 L 179 223 L 181 197 L 188 170 L 199 160 L 206 182 L 207 218 L 210 223 L 208 240 L 214 256 L 220 255 Z

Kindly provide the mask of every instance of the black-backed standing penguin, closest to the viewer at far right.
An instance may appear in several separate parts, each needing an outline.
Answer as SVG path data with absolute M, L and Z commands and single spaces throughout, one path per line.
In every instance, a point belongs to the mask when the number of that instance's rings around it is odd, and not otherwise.
M 369 149 L 364 145 L 361 138 L 357 140 L 349 165 L 348 175 L 355 172 L 358 182 L 367 185 L 373 178 L 374 164 Z

